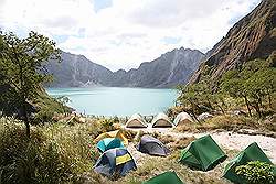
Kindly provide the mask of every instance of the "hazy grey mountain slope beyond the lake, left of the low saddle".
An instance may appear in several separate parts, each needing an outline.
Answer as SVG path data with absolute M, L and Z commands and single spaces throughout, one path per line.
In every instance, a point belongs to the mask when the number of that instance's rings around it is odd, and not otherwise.
M 104 66 L 88 61 L 85 56 L 62 52 L 62 62 L 51 61 L 47 71 L 54 82 L 50 87 L 86 87 L 109 83 L 113 73 Z

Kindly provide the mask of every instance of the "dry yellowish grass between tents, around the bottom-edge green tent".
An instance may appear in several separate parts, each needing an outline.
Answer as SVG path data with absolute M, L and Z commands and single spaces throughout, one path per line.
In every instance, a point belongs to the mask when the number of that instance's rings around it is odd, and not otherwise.
M 229 155 L 227 161 L 233 159 L 237 151 L 225 150 Z M 194 171 L 178 162 L 179 150 L 173 151 L 168 158 L 157 158 L 145 155 L 142 163 L 138 163 L 137 171 L 130 172 L 127 176 L 117 181 L 110 181 L 93 171 L 85 173 L 82 176 L 82 182 L 85 183 L 105 183 L 105 184 L 141 184 L 158 174 L 166 171 L 176 171 L 178 176 L 188 184 L 230 184 L 222 177 L 223 169 L 227 161 L 215 166 L 209 172 Z

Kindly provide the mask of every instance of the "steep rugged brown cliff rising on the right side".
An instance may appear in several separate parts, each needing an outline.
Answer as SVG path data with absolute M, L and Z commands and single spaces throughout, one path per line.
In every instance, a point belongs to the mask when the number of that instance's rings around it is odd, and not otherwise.
M 276 51 L 276 1 L 263 0 L 240 20 L 210 52 L 190 84 L 210 75 L 213 80 L 226 71 L 254 58 L 267 58 Z

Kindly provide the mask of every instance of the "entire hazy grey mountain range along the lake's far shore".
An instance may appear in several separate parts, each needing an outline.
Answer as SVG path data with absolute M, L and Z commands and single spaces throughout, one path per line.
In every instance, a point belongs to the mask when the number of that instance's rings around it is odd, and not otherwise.
M 63 52 L 62 62 L 50 62 L 47 71 L 55 78 L 51 87 L 172 87 L 185 84 L 203 57 L 200 51 L 181 47 L 142 63 L 137 69 L 113 73 L 85 56 Z

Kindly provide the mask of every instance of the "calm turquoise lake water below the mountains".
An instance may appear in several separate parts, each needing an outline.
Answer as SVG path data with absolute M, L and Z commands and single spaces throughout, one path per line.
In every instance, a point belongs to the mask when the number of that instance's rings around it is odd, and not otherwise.
M 176 89 L 148 89 L 148 88 L 47 88 L 53 97 L 66 96 L 68 106 L 77 112 L 96 116 L 145 116 L 166 111 L 174 105 Z

